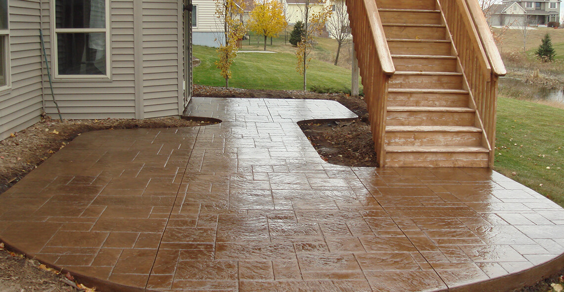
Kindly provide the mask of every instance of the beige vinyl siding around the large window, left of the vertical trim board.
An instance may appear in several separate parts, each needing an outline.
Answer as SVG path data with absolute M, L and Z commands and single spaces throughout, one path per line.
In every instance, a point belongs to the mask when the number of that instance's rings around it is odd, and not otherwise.
M 50 48 L 50 3 L 42 1 L 43 29 L 48 42 L 46 46 Z M 135 0 L 111 0 L 109 5 L 110 79 L 54 79 L 55 98 L 59 102 L 63 118 L 135 118 L 133 1 Z M 51 56 L 50 50 L 47 53 Z M 47 76 L 45 81 L 46 78 Z M 45 99 L 49 100 L 49 82 L 44 82 L 44 85 Z M 50 116 L 56 115 L 52 101 L 46 102 L 46 112 Z

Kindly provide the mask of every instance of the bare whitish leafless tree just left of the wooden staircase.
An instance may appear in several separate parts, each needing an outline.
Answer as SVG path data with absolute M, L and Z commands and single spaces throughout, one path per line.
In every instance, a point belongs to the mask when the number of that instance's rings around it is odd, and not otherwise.
M 349 21 L 349 13 L 344 0 L 336 0 L 333 2 L 333 13 L 327 19 L 327 30 L 329 36 L 337 41 L 337 55 L 335 56 L 334 65 L 337 66 L 341 47 L 351 40 L 351 27 Z

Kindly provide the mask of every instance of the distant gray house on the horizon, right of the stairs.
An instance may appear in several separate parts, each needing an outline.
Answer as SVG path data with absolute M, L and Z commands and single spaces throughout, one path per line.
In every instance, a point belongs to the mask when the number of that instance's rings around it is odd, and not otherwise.
M 490 25 L 548 25 L 560 21 L 561 0 L 510 1 L 492 5 L 486 16 Z

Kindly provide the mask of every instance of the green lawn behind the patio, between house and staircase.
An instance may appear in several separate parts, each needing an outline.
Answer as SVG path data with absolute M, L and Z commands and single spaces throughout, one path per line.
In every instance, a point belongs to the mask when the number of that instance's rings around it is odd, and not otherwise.
M 214 64 L 218 60 L 215 48 L 194 46 L 193 52 L 201 60 L 201 64 L 194 68 L 194 83 L 225 86 L 225 80 Z M 301 90 L 303 78 L 296 71 L 296 64 L 293 54 L 239 53 L 231 68 L 229 85 L 243 89 Z M 350 76 L 350 70 L 312 60 L 307 69 L 307 87 L 331 85 L 336 89 L 350 89 Z

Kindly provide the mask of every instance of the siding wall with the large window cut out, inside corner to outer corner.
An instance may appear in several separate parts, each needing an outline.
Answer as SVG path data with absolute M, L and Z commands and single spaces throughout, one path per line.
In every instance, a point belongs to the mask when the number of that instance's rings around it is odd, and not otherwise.
M 51 47 L 51 5 L 43 28 Z M 182 113 L 182 1 L 111 0 L 110 78 L 54 78 L 63 118 L 151 118 Z M 50 50 L 47 51 L 49 57 Z M 52 68 L 52 66 L 51 66 Z M 45 77 L 46 78 L 46 77 Z M 45 83 L 45 92 L 50 92 Z M 52 101 L 45 111 L 56 114 Z

